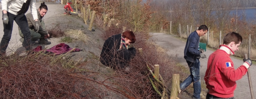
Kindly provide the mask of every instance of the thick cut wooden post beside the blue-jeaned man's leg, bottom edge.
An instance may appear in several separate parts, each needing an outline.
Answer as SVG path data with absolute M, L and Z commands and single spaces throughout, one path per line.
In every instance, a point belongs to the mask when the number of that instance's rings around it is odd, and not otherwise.
M 177 99 L 178 93 L 181 92 L 180 88 L 180 74 L 173 74 L 172 77 L 172 91 L 170 99 Z

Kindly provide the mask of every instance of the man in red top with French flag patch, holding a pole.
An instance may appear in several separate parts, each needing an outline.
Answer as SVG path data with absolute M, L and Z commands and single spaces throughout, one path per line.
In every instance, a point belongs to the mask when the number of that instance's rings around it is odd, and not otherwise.
M 240 80 L 252 65 L 250 58 L 243 59 L 244 63 L 234 69 L 230 55 L 238 50 L 242 40 L 241 35 L 230 32 L 224 37 L 223 45 L 209 56 L 204 76 L 208 89 L 206 99 L 234 99 L 235 81 Z

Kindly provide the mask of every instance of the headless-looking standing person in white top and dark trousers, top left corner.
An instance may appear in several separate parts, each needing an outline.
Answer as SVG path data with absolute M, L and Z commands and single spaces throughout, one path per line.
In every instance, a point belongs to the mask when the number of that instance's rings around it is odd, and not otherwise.
M 37 24 L 36 30 L 38 30 L 40 26 L 37 16 L 36 0 L 2 0 L 1 3 L 4 35 L 0 43 L 0 55 L 4 55 L 6 53 L 6 49 L 11 40 L 13 21 L 18 24 L 24 35 L 23 47 L 28 51 L 30 49 L 32 50 L 30 30 L 25 13 L 30 7 L 35 23 Z

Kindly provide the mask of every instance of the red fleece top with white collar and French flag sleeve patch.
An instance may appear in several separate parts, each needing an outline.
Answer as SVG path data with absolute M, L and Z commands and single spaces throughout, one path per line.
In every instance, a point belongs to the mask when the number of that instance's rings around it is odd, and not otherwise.
M 225 45 L 220 45 L 220 49 L 210 54 L 204 76 L 209 94 L 221 98 L 234 97 L 235 81 L 246 74 L 250 65 L 244 63 L 234 69 L 234 63 L 230 59 L 230 55 L 233 54 L 234 52 Z

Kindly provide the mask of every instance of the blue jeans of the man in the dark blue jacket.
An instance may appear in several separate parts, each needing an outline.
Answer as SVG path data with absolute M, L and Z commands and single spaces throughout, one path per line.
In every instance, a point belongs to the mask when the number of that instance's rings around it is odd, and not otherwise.
M 190 67 L 190 76 L 187 77 L 181 84 L 181 90 L 185 90 L 192 82 L 194 87 L 193 98 L 200 99 L 201 93 L 201 80 L 200 80 L 200 61 L 195 60 L 195 63 L 187 61 Z

